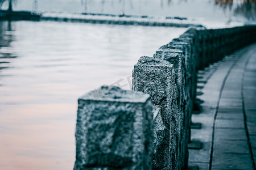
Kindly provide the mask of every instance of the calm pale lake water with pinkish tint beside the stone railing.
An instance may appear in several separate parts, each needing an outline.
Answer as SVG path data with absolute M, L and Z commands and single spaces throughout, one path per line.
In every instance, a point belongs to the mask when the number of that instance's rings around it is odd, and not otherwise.
M 0 169 L 72 169 L 77 99 L 185 28 L 0 22 Z

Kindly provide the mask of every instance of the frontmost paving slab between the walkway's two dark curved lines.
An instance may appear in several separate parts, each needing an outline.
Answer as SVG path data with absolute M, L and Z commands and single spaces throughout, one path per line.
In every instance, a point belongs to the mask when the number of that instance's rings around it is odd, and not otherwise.
M 253 169 L 249 154 L 224 154 L 213 152 L 212 169 Z

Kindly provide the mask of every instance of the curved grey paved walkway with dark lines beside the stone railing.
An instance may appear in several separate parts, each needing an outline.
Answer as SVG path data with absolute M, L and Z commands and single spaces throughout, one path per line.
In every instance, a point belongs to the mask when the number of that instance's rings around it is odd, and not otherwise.
M 256 44 L 199 71 L 197 86 L 201 113 L 192 122 L 201 129 L 191 139 L 202 145 L 189 149 L 189 167 L 255 169 Z

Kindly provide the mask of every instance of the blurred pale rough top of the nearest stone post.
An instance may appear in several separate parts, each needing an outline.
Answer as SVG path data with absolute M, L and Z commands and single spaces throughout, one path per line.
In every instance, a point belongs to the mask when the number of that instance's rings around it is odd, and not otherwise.
M 119 101 L 131 103 L 144 103 L 150 95 L 143 92 L 122 90 L 116 86 L 101 86 L 81 96 L 79 100 L 97 100 L 97 101 Z

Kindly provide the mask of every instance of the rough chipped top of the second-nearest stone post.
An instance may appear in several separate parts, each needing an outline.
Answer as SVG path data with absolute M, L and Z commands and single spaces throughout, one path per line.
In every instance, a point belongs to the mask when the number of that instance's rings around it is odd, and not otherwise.
M 136 65 L 160 66 L 160 67 L 173 67 L 174 66 L 170 62 L 168 62 L 164 59 L 147 57 L 147 56 L 142 56 L 141 58 L 139 58 L 138 63 Z

